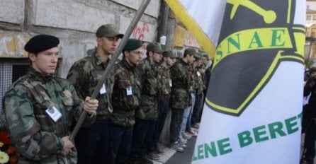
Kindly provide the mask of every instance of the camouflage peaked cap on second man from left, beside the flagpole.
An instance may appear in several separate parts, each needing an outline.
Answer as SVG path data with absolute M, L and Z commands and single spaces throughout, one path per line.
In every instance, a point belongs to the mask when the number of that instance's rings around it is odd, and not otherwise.
M 120 37 L 124 35 L 118 33 L 118 26 L 112 24 L 101 25 L 98 30 L 96 30 L 96 37 Z

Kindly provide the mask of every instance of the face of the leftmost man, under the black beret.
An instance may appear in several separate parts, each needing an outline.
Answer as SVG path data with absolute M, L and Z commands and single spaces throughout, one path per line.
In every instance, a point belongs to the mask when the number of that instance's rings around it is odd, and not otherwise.
M 37 55 L 30 53 L 29 58 L 32 62 L 33 69 L 42 74 L 54 74 L 57 68 L 58 54 L 60 49 L 52 47 L 43 52 L 38 52 Z

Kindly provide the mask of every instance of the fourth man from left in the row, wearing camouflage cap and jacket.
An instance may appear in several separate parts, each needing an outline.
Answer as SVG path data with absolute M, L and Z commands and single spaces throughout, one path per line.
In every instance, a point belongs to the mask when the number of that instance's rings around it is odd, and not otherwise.
M 152 163 L 145 158 L 146 148 L 149 147 L 158 118 L 158 72 L 157 66 L 162 59 L 162 47 L 158 43 L 147 45 L 147 58 L 140 61 L 137 69 L 142 76 L 142 95 L 140 109 L 136 110 L 135 127 L 132 137 L 131 160 Z M 145 148 L 144 146 L 145 145 Z

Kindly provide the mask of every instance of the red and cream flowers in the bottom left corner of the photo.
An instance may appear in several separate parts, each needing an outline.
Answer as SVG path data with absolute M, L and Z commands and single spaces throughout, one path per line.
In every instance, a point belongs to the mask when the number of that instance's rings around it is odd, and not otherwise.
M 19 156 L 6 132 L 4 115 L 0 114 L 0 163 L 18 163 Z

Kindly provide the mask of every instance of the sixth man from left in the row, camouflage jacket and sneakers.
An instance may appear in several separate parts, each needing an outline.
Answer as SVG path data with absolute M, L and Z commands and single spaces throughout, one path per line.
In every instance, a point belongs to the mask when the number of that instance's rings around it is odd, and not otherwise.
M 176 151 L 184 151 L 184 144 L 179 141 L 181 123 L 184 119 L 184 110 L 192 105 L 191 93 L 193 90 L 192 66 L 196 58 L 196 49 L 184 50 L 184 57 L 171 66 L 171 123 L 170 123 L 170 147 Z

